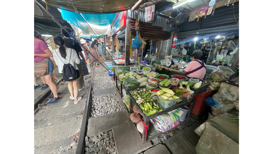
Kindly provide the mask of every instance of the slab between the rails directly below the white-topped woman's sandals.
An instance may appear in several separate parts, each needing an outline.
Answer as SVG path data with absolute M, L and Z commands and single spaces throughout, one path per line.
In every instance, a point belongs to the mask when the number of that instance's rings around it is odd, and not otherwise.
M 58 115 L 62 115 L 62 114 L 70 113 L 70 112 L 81 111 L 81 109 L 84 109 L 84 106 L 85 106 L 85 102 L 80 102 L 77 104 L 67 104 L 63 106 L 42 109 L 35 115 L 34 120 L 36 121 L 39 119 L 54 117 L 54 116 L 58 116 Z

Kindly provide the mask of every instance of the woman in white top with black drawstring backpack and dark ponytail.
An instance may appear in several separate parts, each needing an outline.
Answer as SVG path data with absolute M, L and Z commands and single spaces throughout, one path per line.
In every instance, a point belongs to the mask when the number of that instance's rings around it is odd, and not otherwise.
M 63 80 L 68 82 L 70 99 L 77 104 L 82 97 L 78 97 L 78 78 L 80 77 L 79 68 L 76 64 L 81 63 L 76 51 L 65 46 L 65 41 L 61 36 L 53 37 L 54 43 L 59 45 L 59 49 L 53 51 L 53 57 Z M 76 98 L 76 99 L 75 99 Z

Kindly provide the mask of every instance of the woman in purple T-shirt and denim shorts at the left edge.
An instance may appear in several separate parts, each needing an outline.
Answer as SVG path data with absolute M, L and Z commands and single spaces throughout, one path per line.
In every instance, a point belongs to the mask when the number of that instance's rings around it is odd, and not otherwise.
M 48 99 L 52 99 L 50 102 L 46 103 L 47 105 L 55 104 L 56 102 L 61 100 L 60 92 L 57 90 L 56 82 L 53 80 L 52 72 L 54 70 L 54 64 L 49 59 L 49 57 L 53 57 L 51 51 L 48 49 L 47 43 L 38 34 L 34 31 L 34 72 L 36 76 L 43 75 L 46 84 L 49 86 L 50 90 L 52 91 L 52 95 Z M 45 73 L 42 72 L 39 74 L 39 68 L 43 68 L 45 64 L 38 64 L 38 62 L 46 62 L 48 60 L 48 71 Z M 36 63 L 35 63 L 36 62 Z M 37 86 L 38 83 L 34 80 L 34 87 Z

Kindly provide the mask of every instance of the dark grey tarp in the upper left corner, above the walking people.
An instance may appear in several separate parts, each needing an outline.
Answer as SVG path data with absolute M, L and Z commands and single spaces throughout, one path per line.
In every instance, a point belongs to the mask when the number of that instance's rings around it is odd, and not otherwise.
M 44 8 L 46 8 L 46 5 L 44 2 L 39 2 Z M 69 23 L 67 23 L 63 18 L 61 17 L 61 12 L 55 8 L 55 7 L 48 7 L 49 13 L 54 16 L 54 18 L 61 23 L 63 26 L 67 26 L 70 29 L 72 28 Z M 54 22 L 54 20 L 49 16 L 48 13 L 46 13 L 43 8 L 40 8 L 38 4 L 34 1 L 34 30 L 41 33 L 41 34 L 47 34 L 47 35 L 63 35 L 61 34 L 61 28 L 60 26 Z

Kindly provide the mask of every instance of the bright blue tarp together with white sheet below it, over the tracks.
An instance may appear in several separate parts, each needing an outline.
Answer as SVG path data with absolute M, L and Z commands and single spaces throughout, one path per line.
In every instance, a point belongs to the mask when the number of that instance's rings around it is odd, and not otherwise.
M 70 12 L 61 9 L 61 14 L 64 20 L 69 22 L 71 25 L 74 25 L 80 28 L 86 33 L 92 33 L 88 27 L 85 20 L 88 22 L 89 26 L 99 34 L 110 34 L 110 24 L 115 18 L 116 13 L 112 14 L 81 14 L 76 12 Z

